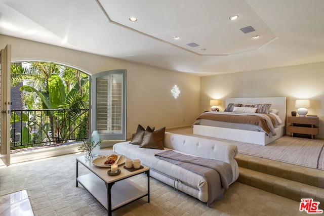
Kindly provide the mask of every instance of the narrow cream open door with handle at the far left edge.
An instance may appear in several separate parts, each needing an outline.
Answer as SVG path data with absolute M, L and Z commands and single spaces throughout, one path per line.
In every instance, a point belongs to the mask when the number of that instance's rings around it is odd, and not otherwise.
M 10 75 L 11 45 L 0 52 L 0 157 L 5 165 L 10 165 Z

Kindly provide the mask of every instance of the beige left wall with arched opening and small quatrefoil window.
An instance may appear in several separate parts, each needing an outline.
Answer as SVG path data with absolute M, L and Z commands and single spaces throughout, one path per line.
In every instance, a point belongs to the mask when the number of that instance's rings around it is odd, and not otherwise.
M 0 34 L 0 47 L 12 46 L 12 61 L 48 61 L 88 74 L 127 69 L 127 137 L 140 123 L 167 128 L 190 125 L 199 115 L 200 77 Z M 181 93 L 171 94 L 177 84 Z

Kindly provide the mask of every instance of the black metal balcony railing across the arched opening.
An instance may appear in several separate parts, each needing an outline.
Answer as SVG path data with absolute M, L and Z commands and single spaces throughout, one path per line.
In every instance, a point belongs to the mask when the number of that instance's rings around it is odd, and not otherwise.
M 11 150 L 89 137 L 89 109 L 11 110 Z

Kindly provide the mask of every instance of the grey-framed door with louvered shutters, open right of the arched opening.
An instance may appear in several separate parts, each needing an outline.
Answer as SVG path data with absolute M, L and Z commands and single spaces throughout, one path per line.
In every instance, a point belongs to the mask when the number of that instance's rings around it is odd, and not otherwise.
M 126 70 L 109 70 L 91 78 L 91 131 L 102 141 L 126 141 Z

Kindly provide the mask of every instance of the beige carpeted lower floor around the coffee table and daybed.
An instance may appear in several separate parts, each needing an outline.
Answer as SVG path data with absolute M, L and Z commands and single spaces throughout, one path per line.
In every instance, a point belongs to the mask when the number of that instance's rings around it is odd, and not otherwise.
M 0 196 L 26 190 L 35 216 L 107 215 L 107 210 L 82 186 L 75 187 L 75 158 L 80 154 L 0 167 Z M 79 175 L 88 172 L 80 166 Z M 146 187 L 146 178 L 144 174 L 138 175 L 132 181 Z M 239 182 L 230 185 L 224 195 L 224 199 L 209 208 L 206 203 L 150 178 L 150 203 L 144 197 L 114 211 L 112 215 L 307 215 L 306 211 L 299 211 L 298 201 Z M 0 212 L 0 215 L 6 214 Z

